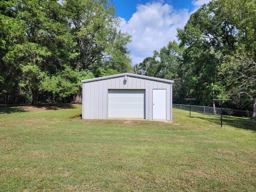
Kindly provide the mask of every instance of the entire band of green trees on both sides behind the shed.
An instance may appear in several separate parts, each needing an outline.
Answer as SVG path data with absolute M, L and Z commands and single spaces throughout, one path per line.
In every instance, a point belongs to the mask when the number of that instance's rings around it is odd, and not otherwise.
M 229 98 L 256 119 L 256 2 L 216 0 L 194 12 L 178 42 L 133 68 L 110 0 L 2 0 L 0 99 L 81 100 L 80 80 L 135 72 L 172 79 L 175 103 Z M 205 101 L 208 100 L 208 101 Z

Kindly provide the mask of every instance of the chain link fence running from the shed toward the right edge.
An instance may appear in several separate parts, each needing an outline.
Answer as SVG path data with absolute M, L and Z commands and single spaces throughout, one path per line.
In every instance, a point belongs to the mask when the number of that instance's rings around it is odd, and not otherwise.
M 216 123 L 220 119 L 222 112 L 223 122 L 230 125 L 246 125 L 256 127 L 256 120 L 252 120 L 251 116 L 254 112 L 226 109 L 226 108 L 217 108 L 217 107 L 208 107 L 208 106 L 196 106 L 196 105 L 184 105 L 184 104 L 172 104 L 174 113 L 186 114 L 195 116 L 198 118 L 208 118 L 211 122 Z

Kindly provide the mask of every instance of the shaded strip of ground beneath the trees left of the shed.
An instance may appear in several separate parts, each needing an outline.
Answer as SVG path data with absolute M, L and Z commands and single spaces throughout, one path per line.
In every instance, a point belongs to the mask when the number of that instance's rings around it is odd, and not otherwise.
M 34 109 L 42 110 L 60 110 L 60 109 L 74 109 L 76 106 L 72 104 L 38 104 L 38 105 L 22 105 L 13 107 L 0 107 L 0 114 L 11 114 L 20 112 L 29 112 Z

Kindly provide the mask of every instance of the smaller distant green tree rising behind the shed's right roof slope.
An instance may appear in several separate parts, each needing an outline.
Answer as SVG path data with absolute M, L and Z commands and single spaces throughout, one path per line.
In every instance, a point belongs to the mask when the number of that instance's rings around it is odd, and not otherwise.
M 153 57 L 147 57 L 139 65 L 134 65 L 134 72 L 174 80 L 173 99 L 174 102 L 181 102 L 186 96 L 186 76 L 182 66 L 184 50 L 185 47 L 176 41 L 169 42 L 167 46 L 160 49 L 160 52 L 154 51 Z

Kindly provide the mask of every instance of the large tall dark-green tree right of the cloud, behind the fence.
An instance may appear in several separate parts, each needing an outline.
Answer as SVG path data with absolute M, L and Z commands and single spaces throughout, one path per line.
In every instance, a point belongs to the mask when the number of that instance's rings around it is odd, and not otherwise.
M 254 0 L 212 1 L 194 12 L 183 30 L 178 29 L 178 38 L 187 47 L 183 65 L 189 77 L 189 96 L 202 99 L 229 97 L 236 100 L 233 103 L 236 106 L 244 104 L 242 100 L 237 103 L 244 91 L 240 92 L 238 82 L 235 83 L 239 79 L 238 73 L 227 73 L 226 69 L 244 66 L 237 57 L 238 52 L 246 55 L 250 63 L 255 61 L 255 6 Z M 238 60 L 240 65 L 237 65 Z M 245 72 L 243 67 L 240 71 Z M 250 75 L 249 78 L 253 81 L 254 77 Z M 254 97 L 253 92 L 248 94 Z

